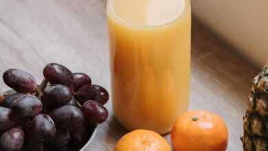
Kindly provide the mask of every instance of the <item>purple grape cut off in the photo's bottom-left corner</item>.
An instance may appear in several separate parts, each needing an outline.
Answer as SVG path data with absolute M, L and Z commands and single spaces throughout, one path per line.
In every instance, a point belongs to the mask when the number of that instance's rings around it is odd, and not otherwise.
M 0 137 L 0 148 L 3 151 L 19 151 L 23 149 L 25 135 L 23 130 L 12 128 Z

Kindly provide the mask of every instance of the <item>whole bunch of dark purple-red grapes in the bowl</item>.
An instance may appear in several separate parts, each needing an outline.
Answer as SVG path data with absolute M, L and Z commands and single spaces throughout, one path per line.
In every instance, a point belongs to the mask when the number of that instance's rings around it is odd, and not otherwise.
M 3 73 L 16 93 L 5 95 L 0 89 L 1 151 L 79 150 L 107 119 L 109 93 L 92 84 L 89 75 L 56 63 L 46 65 L 43 75 L 38 85 L 21 69 Z

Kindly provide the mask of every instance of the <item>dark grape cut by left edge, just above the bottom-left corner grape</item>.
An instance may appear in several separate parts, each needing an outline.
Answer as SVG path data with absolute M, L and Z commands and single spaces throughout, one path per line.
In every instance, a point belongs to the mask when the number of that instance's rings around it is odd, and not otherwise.
M 12 116 L 9 108 L 0 106 L 0 132 L 8 130 L 18 124 L 18 120 Z

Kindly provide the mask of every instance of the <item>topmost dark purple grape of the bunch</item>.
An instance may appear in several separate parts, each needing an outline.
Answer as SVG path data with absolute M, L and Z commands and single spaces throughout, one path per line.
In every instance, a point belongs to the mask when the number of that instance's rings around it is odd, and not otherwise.
M 63 84 L 71 87 L 73 83 L 73 74 L 63 65 L 49 63 L 43 70 L 43 75 L 51 84 Z

